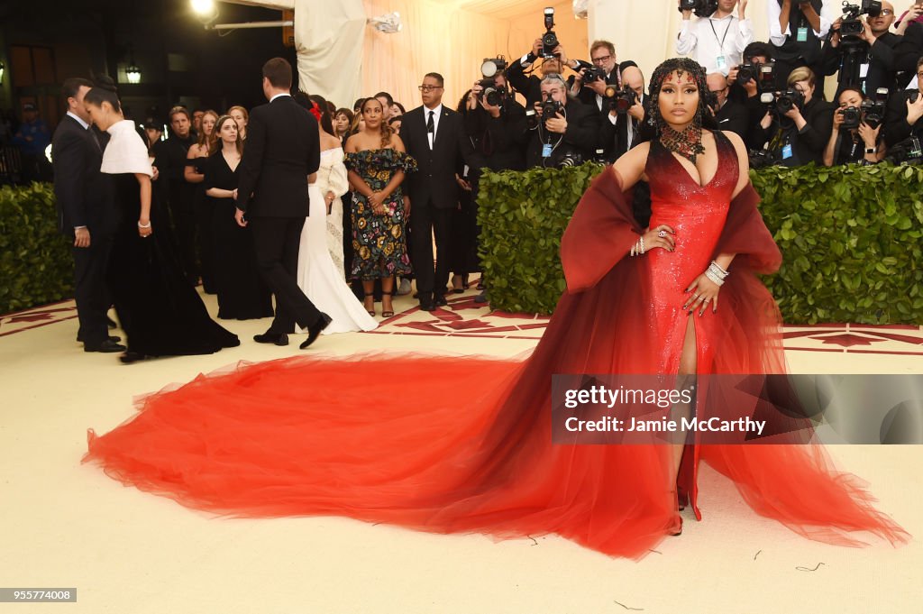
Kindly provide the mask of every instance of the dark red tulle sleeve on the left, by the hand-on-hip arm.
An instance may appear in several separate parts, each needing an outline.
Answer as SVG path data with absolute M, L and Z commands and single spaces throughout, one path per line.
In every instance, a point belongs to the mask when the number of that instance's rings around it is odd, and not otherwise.
M 628 255 L 641 227 L 612 167 L 593 179 L 561 237 L 561 265 L 571 293 L 599 283 Z

